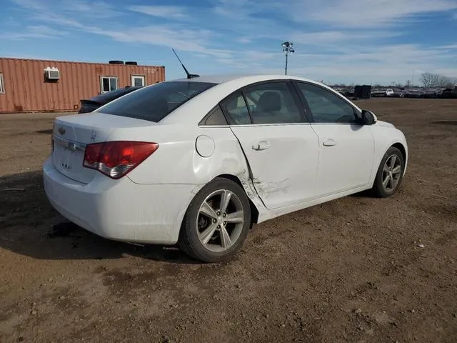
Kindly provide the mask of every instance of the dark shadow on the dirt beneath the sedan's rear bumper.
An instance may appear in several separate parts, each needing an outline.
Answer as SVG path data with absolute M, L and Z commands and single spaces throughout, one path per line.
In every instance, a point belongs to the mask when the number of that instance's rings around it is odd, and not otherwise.
M 34 259 L 120 259 L 133 255 L 174 264 L 199 264 L 176 247 L 115 242 L 87 232 L 56 212 L 41 172 L 0 177 L 0 248 Z

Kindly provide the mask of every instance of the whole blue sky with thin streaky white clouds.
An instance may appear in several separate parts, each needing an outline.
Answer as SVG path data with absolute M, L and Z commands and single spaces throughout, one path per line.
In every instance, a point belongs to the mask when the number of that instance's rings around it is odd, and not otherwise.
M 391 84 L 457 77 L 457 0 L 0 0 L 0 56 Z

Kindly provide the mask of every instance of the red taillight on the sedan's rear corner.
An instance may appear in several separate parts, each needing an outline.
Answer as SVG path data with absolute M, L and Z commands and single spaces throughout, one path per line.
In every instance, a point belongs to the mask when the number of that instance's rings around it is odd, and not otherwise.
M 106 141 L 88 144 L 83 166 L 96 169 L 111 179 L 120 179 L 159 148 L 146 141 Z

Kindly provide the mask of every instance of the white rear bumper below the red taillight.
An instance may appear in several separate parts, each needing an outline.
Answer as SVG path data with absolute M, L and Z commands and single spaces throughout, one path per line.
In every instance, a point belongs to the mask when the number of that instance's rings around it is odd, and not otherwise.
M 191 199 L 192 184 L 135 184 L 100 174 L 82 184 L 46 160 L 44 191 L 52 206 L 71 222 L 101 237 L 125 242 L 175 244 Z

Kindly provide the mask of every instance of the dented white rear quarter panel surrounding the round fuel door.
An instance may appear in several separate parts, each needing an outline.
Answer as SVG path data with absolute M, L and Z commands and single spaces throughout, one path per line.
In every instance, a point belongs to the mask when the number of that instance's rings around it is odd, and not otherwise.
M 137 130 L 138 140 L 154 141 L 159 144 L 141 168 L 127 176 L 136 184 L 195 184 L 185 211 L 195 194 L 214 178 L 229 174 L 238 178 L 251 202 L 259 212 L 259 219 L 268 212 L 258 197 L 251 179 L 246 157 L 238 140 L 229 127 L 199 127 L 189 129 L 189 124 L 159 124 Z M 197 137 L 205 135 L 214 140 L 214 153 L 200 156 L 196 151 Z M 114 132 L 109 140 L 129 139 Z

